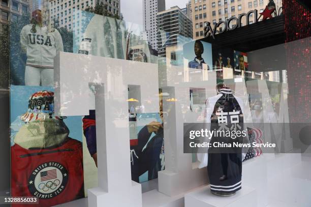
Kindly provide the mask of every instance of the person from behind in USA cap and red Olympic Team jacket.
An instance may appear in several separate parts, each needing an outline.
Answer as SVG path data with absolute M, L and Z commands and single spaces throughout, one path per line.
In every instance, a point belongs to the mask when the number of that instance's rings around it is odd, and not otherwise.
M 32 89 L 25 87 L 19 90 Z M 18 128 L 11 135 L 11 195 L 39 199 L 13 207 L 48 207 L 84 197 L 82 143 L 69 136 L 65 119 L 54 115 L 54 92 L 41 90 L 11 123 L 11 131 Z

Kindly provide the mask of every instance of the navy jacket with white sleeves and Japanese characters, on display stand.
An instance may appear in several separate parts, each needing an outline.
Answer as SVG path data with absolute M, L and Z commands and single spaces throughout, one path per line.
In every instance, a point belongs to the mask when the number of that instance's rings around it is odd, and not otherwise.
M 240 131 L 244 129 L 243 102 L 225 84 L 216 85 L 217 95 L 206 100 L 205 122 L 210 130 Z M 238 144 L 249 142 L 243 137 L 212 136 L 208 154 L 198 154 L 199 167 L 207 165 L 210 190 L 215 195 L 230 196 L 241 189 L 242 148 L 213 147 L 214 143 Z

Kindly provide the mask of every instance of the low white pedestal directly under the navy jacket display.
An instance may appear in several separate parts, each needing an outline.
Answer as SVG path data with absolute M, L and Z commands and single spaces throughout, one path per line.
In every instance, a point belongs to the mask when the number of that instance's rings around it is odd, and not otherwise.
M 210 186 L 205 186 L 199 190 L 185 194 L 185 207 L 241 207 L 257 206 L 256 190 L 243 186 L 235 195 L 220 197 L 210 192 Z

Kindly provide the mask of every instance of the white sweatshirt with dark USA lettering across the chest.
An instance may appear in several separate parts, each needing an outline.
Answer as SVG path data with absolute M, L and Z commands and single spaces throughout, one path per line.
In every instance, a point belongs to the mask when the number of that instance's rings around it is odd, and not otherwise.
M 34 67 L 54 67 L 57 52 L 64 51 L 63 40 L 57 29 L 49 32 L 38 24 L 25 25 L 20 33 L 21 48 L 26 51 L 26 65 Z

